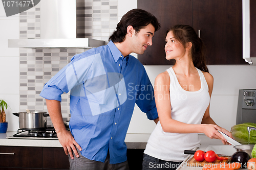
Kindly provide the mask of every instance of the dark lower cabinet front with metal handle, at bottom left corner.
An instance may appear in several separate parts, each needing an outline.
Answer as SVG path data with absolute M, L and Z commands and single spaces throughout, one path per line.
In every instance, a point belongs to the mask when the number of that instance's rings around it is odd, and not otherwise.
M 42 148 L 0 146 L 0 153 L 0 169 L 2 167 L 42 168 Z

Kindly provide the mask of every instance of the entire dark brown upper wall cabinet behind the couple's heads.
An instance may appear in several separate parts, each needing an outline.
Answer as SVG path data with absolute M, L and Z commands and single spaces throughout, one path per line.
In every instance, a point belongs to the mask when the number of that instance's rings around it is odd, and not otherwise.
M 138 8 L 154 14 L 161 29 L 138 60 L 144 65 L 169 65 L 164 44 L 167 28 L 190 25 L 207 48 L 207 64 L 248 64 L 242 56 L 241 0 L 138 0 Z

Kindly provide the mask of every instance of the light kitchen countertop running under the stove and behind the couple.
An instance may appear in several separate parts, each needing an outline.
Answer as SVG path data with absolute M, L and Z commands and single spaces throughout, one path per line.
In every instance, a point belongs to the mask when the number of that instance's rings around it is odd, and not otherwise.
M 0 145 L 20 147 L 62 147 L 57 139 L 7 139 L 16 132 L 0 133 Z M 150 134 L 126 134 L 125 143 L 128 149 L 145 149 Z M 222 144 L 218 139 L 210 139 L 199 134 L 201 139 L 200 149 L 204 150 L 209 144 Z

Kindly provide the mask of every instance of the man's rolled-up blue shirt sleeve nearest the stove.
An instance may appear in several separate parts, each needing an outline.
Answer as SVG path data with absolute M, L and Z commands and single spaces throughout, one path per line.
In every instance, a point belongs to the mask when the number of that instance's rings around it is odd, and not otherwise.
M 73 87 L 88 78 L 88 71 L 94 56 L 86 57 L 84 53 L 75 55 L 71 62 L 62 68 L 42 89 L 40 96 L 48 100 L 61 102 L 61 94 L 68 93 Z

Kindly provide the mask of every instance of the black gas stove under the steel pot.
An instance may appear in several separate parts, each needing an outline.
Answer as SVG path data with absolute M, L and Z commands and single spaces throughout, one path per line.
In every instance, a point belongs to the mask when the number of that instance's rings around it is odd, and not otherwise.
M 17 133 L 9 136 L 9 139 L 56 139 L 56 131 L 52 127 L 47 129 L 18 129 Z

